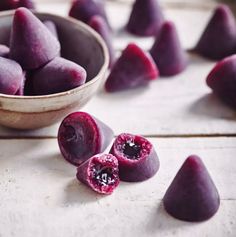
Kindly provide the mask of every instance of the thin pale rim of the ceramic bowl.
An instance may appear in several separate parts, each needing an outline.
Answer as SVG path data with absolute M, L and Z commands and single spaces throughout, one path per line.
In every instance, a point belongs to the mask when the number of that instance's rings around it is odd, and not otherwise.
M 62 96 L 68 96 L 72 94 L 76 94 L 77 92 L 83 90 L 86 87 L 89 87 L 91 84 L 94 84 L 96 81 L 98 81 L 102 75 L 105 75 L 108 66 L 109 66 L 109 53 L 108 53 L 108 48 L 106 46 L 105 41 L 102 39 L 102 37 L 94 30 L 92 29 L 89 25 L 85 24 L 82 21 L 79 21 L 73 17 L 70 16 L 61 16 L 57 14 L 52 14 L 48 12 L 41 12 L 41 11 L 32 11 L 36 16 L 51 16 L 51 17 L 57 17 L 61 18 L 61 20 L 67 20 L 70 23 L 78 25 L 80 28 L 82 28 L 84 31 L 87 31 L 94 39 L 97 41 L 98 45 L 101 47 L 102 54 L 103 54 L 103 59 L 104 63 L 102 64 L 99 72 L 96 74 L 95 77 L 93 77 L 90 81 L 86 82 L 85 84 L 76 87 L 71 90 L 59 92 L 59 93 L 54 93 L 54 94 L 49 94 L 49 95 L 35 95 L 35 96 L 20 96 L 20 95 L 7 95 L 7 94 L 2 94 L 0 93 L 0 99 L 12 99 L 12 100 L 36 100 L 36 99 L 49 99 L 49 98 L 56 98 L 56 97 L 62 97 Z M 15 13 L 15 10 L 10 10 L 10 11 L 4 11 L 0 13 L 0 18 L 1 17 L 7 17 L 7 16 L 13 16 Z

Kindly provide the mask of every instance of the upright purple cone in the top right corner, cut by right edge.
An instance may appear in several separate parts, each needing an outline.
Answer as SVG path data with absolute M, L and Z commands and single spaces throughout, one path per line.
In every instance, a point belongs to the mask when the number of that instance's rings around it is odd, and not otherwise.
M 195 51 L 212 60 L 236 52 L 236 22 L 230 8 L 219 5 L 200 37 Z

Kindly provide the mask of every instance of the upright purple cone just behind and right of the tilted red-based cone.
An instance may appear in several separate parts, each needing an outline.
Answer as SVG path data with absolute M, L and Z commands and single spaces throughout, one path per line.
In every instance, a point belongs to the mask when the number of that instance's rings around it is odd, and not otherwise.
M 173 76 L 187 66 L 187 55 L 181 47 L 174 23 L 166 21 L 156 37 L 150 53 L 161 76 Z

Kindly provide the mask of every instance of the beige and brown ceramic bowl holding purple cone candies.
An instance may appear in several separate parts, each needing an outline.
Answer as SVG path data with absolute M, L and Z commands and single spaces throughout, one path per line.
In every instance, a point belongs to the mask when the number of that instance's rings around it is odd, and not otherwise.
M 9 44 L 14 11 L 0 14 L 0 44 Z M 102 38 L 84 23 L 46 13 L 35 13 L 42 21 L 53 21 L 58 29 L 61 55 L 83 66 L 87 81 L 73 90 L 44 96 L 0 94 L 0 124 L 17 129 L 42 128 L 61 121 L 81 109 L 96 93 L 108 68 L 108 51 Z

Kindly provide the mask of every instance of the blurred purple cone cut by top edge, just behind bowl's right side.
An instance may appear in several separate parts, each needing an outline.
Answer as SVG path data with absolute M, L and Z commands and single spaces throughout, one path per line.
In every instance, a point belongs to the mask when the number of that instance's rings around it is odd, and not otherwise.
M 73 0 L 69 16 L 88 24 L 95 15 L 99 15 L 107 21 L 103 4 L 97 3 L 94 0 Z

